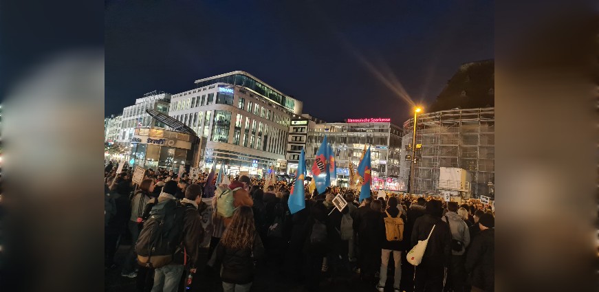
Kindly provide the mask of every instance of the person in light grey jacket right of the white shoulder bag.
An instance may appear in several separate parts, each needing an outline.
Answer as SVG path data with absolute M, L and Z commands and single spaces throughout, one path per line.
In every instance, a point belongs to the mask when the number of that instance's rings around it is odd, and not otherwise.
M 466 281 L 464 261 L 466 247 L 470 244 L 470 230 L 468 224 L 457 214 L 457 207 L 457 202 L 447 202 L 448 212 L 441 220 L 449 224 L 451 231 L 451 266 L 446 287 L 454 292 L 462 292 Z

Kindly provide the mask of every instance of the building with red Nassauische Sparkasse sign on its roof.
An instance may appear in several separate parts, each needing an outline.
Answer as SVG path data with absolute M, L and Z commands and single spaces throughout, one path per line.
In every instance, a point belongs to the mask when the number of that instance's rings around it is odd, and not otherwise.
M 308 172 L 325 135 L 336 151 L 338 186 L 348 186 L 349 164 L 357 169 L 364 146 L 370 146 L 372 188 L 404 188 L 403 181 L 398 179 L 402 128 L 391 124 L 391 119 L 347 119 L 347 122 L 314 124 L 314 128 L 309 129 L 305 146 Z M 308 175 L 312 176 L 311 173 Z

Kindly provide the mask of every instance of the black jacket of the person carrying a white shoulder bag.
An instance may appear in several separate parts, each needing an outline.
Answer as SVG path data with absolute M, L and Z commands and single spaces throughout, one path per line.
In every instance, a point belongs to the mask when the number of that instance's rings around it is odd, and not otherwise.
M 417 218 L 412 230 L 410 247 L 414 247 L 418 243 L 418 240 L 425 240 L 428 234 L 431 233 L 433 225 L 435 225 L 435 230 L 426 245 L 422 263 L 450 267 L 451 233 L 449 226 L 441 218 L 429 214 Z

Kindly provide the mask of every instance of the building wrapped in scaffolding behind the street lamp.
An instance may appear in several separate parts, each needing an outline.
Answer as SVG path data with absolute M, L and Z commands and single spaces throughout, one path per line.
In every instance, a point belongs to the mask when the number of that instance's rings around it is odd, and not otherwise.
M 414 120 L 404 122 L 402 157 L 411 155 L 406 150 L 412 143 Z M 483 109 L 453 109 L 418 115 L 417 151 L 413 193 L 424 194 L 439 190 L 439 169 L 463 168 L 472 177 L 472 197 L 493 196 L 489 182 L 494 183 L 495 112 L 494 107 Z M 406 184 L 410 177 L 411 161 L 402 159 L 400 178 Z

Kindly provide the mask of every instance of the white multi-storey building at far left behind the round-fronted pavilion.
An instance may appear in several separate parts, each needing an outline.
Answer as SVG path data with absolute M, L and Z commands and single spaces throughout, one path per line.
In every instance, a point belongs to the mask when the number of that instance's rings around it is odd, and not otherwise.
M 146 109 L 154 109 L 168 114 L 171 94 L 162 91 L 152 91 L 144 94 L 143 98 L 135 100 L 135 104 L 122 109 L 122 122 L 117 142 L 129 146 L 135 128 L 164 128 L 164 124 L 154 120 Z

